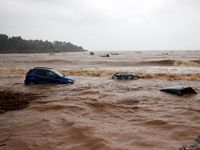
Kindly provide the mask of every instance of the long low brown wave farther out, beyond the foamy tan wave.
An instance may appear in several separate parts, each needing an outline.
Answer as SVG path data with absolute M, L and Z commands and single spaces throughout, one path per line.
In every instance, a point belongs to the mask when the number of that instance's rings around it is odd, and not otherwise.
M 21 61 L 17 61 L 21 62 Z M 133 66 L 186 66 L 186 67 L 200 67 L 200 60 L 194 59 L 153 59 L 147 61 L 137 61 L 137 60 L 66 60 L 66 59 L 50 59 L 50 60 L 27 60 L 23 63 L 27 64 L 42 64 L 42 65 L 96 65 L 96 66 L 111 66 L 111 67 L 133 67 Z

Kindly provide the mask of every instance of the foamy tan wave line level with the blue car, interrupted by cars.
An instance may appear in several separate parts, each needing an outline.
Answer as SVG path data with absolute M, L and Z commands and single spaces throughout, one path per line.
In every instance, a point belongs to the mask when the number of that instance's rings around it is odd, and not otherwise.
M 5 75 L 25 75 L 27 69 L 23 68 L 0 68 L 0 74 L 5 74 Z M 112 69 L 82 69 L 82 70 L 77 70 L 77 69 L 61 69 L 61 72 L 63 72 L 66 75 L 70 76 L 90 76 L 90 77 L 109 77 L 116 73 L 116 72 L 121 72 L 122 70 L 112 70 Z M 129 71 L 131 74 L 135 74 L 140 76 L 141 78 L 144 79 L 166 79 L 166 80 L 200 80 L 200 72 L 190 72 L 187 71 L 185 72 L 148 72 L 145 70 L 140 70 L 140 71 Z

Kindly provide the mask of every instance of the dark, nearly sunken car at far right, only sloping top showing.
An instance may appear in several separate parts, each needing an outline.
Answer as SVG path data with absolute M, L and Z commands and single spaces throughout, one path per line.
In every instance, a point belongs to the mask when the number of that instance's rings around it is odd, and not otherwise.
M 161 89 L 162 92 L 172 93 L 176 95 L 184 95 L 184 94 L 197 94 L 195 90 L 191 87 L 183 87 L 183 86 L 174 86 L 174 87 L 166 87 Z

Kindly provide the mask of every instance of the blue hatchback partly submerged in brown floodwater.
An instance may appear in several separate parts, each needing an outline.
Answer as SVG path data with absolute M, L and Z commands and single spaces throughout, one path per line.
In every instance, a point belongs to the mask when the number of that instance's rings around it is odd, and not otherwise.
M 58 84 L 73 84 L 74 79 L 65 76 L 53 68 L 36 67 L 30 69 L 24 80 L 25 84 L 35 83 L 58 83 Z

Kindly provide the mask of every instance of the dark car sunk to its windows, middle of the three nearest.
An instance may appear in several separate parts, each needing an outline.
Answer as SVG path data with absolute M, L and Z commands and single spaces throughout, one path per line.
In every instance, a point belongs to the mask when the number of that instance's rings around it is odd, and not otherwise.
M 124 80 L 138 80 L 140 77 L 128 73 L 115 73 L 112 75 L 112 79 L 124 79 Z

